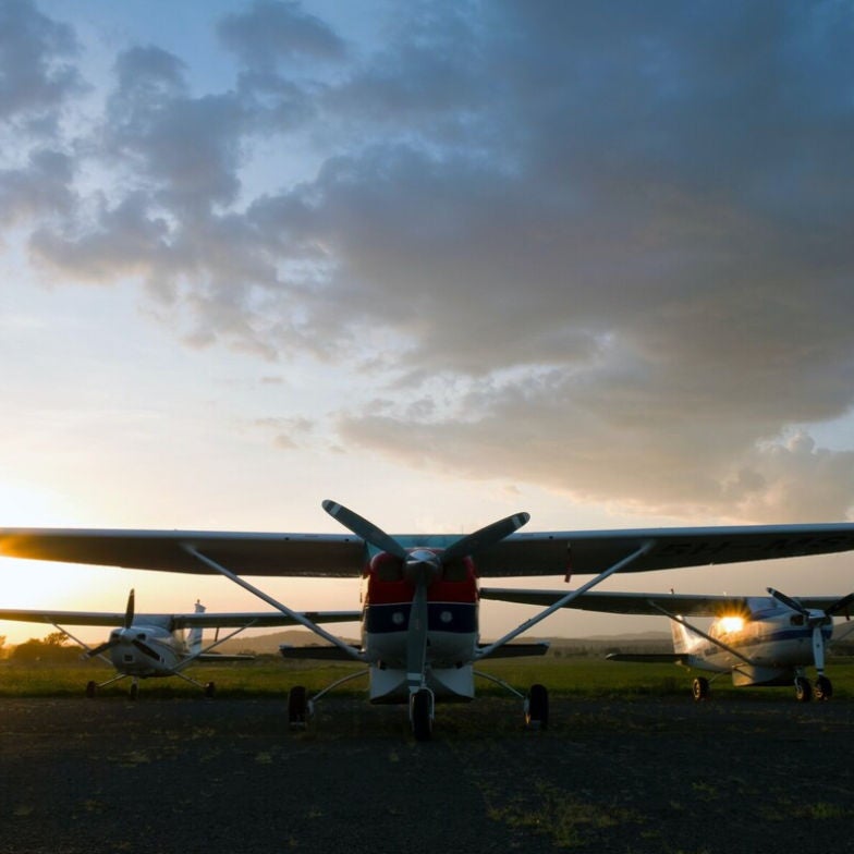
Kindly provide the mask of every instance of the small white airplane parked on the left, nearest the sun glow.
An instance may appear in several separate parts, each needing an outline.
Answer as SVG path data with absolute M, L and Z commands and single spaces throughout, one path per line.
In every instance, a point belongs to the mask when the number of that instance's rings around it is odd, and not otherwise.
M 98 688 L 111 685 L 122 679 L 131 678 L 131 699 L 136 699 L 141 679 L 178 676 L 204 691 L 205 696 L 212 697 L 216 685 L 212 682 L 202 684 L 186 675 L 183 671 L 196 662 L 211 661 L 245 661 L 253 656 L 229 656 L 213 652 L 225 640 L 236 636 L 246 629 L 267 626 L 294 625 L 291 617 L 280 611 L 270 612 L 225 612 L 207 613 L 205 606 L 196 602 L 193 613 L 149 613 L 135 614 L 135 595 L 131 590 L 124 613 L 100 611 L 38 611 L 3 608 L 0 620 L 14 620 L 27 623 L 50 623 L 66 637 L 84 649 L 83 658 L 102 658 L 115 668 L 115 675 L 105 682 L 94 680 L 86 685 L 86 696 L 94 697 Z M 317 622 L 354 622 L 362 615 L 361 611 L 322 611 L 302 614 Z M 90 647 L 75 637 L 69 625 L 120 625 L 110 632 L 102 644 Z M 190 630 L 185 634 L 184 630 Z M 203 644 L 203 631 L 216 629 L 215 639 Z M 235 629 L 224 637 L 219 637 L 220 629 Z M 109 654 L 109 657 L 106 655 Z

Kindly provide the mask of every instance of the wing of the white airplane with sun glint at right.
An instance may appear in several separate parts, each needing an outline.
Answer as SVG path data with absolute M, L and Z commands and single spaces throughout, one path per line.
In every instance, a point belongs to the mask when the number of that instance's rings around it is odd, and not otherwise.
M 499 599 L 547 608 L 566 596 L 568 590 L 516 590 L 481 587 L 481 599 Z M 749 597 L 753 598 L 753 597 Z M 585 593 L 568 602 L 565 608 L 620 614 L 655 614 L 661 612 L 682 617 L 720 617 L 722 613 L 747 610 L 746 596 L 706 596 L 667 593 Z M 798 596 L 805 608 L 826 610 L 839 601 L 838 596 Z

